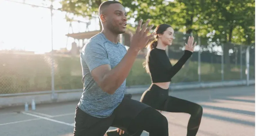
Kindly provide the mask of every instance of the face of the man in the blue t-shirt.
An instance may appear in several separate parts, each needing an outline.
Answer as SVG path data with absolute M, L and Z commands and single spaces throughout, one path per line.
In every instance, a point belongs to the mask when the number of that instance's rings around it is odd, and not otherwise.
M 107 28 L 116 34 L 126 31 L 126 11 L 125 7 L 119 3 L 111 4 L 106 10 Z

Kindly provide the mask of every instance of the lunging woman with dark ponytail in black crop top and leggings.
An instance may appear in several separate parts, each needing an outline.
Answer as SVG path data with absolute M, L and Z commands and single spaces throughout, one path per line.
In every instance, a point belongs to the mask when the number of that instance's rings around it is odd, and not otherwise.
M 190 114 L 187 136 L 196 136 L 201 123 L 203 108 L 196 103 L 168 95 L 172 77 L 191 57 L 196 42 L 194 43 L 193 37 L 189 37 L 188 43 L 185 44 L 184 55 L 172 66 L 165 53 L 165 49 L 168 45 L 172 45 L 174 30 L 170 25 L 161 24 L 156 27 L 155 31 L 156 39 L 149 44 L 150 50 L 146 56 L 146 61 L 143 63 L 147 73 L 151 77 L 152 85 L 143 93 L 140 101 L 156 110 Z M 140 130 L 133 136 L 140 136 L 142 132 Z M 127 135 L 120 129 L 107 132 L 107 136 L 121 134 L 124 134 L 124 136 Z

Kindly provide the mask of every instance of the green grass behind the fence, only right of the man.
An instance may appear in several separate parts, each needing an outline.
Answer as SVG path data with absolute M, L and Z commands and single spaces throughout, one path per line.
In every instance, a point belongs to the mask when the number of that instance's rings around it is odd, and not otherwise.
M 148 85 L 151 84 L 149 75 L 145 72 L 142 63 L 145 59 L 136 59 L 134 66 L 127 77 L 127 85 Z M 177 60 L 170 60 L 174 65 Z M 254 68 L 250 66 L 250 77 L 253 78 Z M 240 65 L 230 64 L 230 69 L 224 64 L 224 80 L 239 80 Z M 245 66 L 243 66 L 243 79 L 246 79 Z M 201 81 L 221 81 L 221 64 L 201 63 Z M 173 83 L 179 82 L 197 82 L 198 62 L 188 61 L 183 68 L 172 78 Z

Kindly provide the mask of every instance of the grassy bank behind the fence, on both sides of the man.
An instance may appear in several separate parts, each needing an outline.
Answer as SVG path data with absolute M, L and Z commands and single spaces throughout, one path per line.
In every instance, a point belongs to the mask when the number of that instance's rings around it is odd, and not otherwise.
M 8 59 L 7 59 L 8 58 Z M 170 60 L 174 65 L 177 60 Z M 127 86 L 149 85 L 151 79 L 142 66 L 144 59 L 136 59 L 127 77 Z M 245 66 L 243 66 L 245 71 Z M 254 75 L 250 67 L 250 77 Z M 54 57 L 55 90 L 80 89 L 82 69 L 80 58 Z M 224 66 L 224 80 L 240 79 L 240 65 Z M 243 79 L 246 79 L 243 72 Z M 172 82 L 197 82 L 198 62 L 188 61 L 172 78 Z M 201 81 L 221 81 L 221 64 L 201 63 Z M 0 54 L 0 94 L 51 90 L 51 57 L 48 55 Z

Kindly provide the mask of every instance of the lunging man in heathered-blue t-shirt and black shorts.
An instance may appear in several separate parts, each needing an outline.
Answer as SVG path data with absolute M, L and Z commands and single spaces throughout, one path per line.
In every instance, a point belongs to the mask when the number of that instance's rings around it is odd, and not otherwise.
M 93 36 L 81 51 L 84 92 L 75 111 L 74 136 L 103 136 L 110 126 L 129 135 L 145 130 L 150 136 L 168 136 L 168 122 L 161 113 L 124 95 L 126 78 L 138 51 L 154 35 L 147 35 L 153 26 L 146 29 L 148 20 L 141 29 L 141 20 L 136 33 L 130 33 L 131 45 L 126 50 L 118 42 L 127 21 L 122 4 L 102 3 L 99 17 L 102 32 Z

